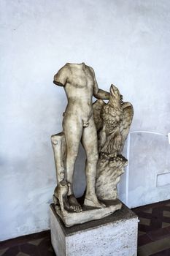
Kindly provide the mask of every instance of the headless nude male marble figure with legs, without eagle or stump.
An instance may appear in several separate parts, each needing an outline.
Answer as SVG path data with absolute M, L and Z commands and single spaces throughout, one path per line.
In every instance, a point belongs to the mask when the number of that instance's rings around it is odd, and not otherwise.
M 81 211 L 73 193 L 74 164 L 80 141 L 86 153 L 86 194 L 85 206 L 104 207 L 96 197 L 96 165 L 98 161 L 98 139 L 93 121 L 92 97 L 109 99 L 109 93 L 98 89 L 91 67 L 82 64 L 66 64 L 54 76 L 54 83 L 63 86 L 68 105 L 63 116 L 63 132 L 66 137 L 66 181 L 71 184 L 69 205 L 74 211 Z

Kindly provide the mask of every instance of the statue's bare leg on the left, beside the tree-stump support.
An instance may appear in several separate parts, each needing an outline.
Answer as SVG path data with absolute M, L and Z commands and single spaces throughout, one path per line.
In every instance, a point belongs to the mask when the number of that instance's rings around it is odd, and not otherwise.
M 82 137 L 82 121 L 77 120 L 77 116 L 65 115 L 63 118 L 63 132 L 66 138 L 66 181 L 71 184 L 68 195 L 69 206 L 74 211 L 82 211 L 73 192 L 74 165 Z

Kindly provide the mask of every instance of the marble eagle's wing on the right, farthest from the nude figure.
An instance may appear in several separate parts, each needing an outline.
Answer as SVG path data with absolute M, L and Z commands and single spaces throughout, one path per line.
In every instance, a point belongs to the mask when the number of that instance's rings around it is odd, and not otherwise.
M 123 146 L 125 144 L 126 138 L 128 137 L 131 121 L 134 116 L 134 108 L 130 102 L 124 102 L 122 104 L 122 108 L 123 108 L 123 119 L 120 122 L 120 134 L 122 135 L 122 146 L 120 148 L 120 153 L 123 151 Z

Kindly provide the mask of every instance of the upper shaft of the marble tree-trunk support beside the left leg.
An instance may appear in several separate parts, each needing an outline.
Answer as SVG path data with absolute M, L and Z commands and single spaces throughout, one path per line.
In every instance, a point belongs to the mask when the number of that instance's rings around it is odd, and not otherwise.
M 56 177 L 58 183 L 61 181 L 60 173 L 65 170 L 66 138 L 63 132 L 51 136 L 54 151 Z

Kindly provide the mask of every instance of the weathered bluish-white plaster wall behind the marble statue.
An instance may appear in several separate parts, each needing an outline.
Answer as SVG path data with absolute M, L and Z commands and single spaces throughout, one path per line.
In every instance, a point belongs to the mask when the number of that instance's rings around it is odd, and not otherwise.
M 0 12 L 0 240 L 5 240 L 49 227 L 55 187 L 50 135 L 61 131 L 66 107 L 53 75 L 66 62 L 92 66 L 102 89 L 119 87 L 134 105 L 131 131 L 170 132 L 170 3 L 1 0 Z M 131 141 L 129 205 L 168 198 L 169 184 L 150 187 L 157 173 L 170 171 L 166 137 L 136 133 Z M 81 169 L 82 154 L 77 195 L 85 187 Z M 123 200 L 124 192 L 125 176 Z

